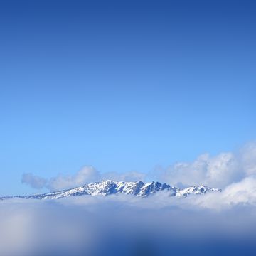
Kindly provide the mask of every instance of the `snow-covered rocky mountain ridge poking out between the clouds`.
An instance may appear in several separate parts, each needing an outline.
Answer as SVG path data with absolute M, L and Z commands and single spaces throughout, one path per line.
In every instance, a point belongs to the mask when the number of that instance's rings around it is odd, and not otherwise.
M 112 194 L 127 194 L 146 197 L 159 191 L 167 191 L 169 196 L 186 197 L 190 194 L 205 194 L 208 192 L 221 192 L 219 188 L 210 188 L 207 186 L 191 186 L 179 189 L 166 183 L 150 182 L 124 182 L 124 181 L 100 181 L 86 184 L 77 188 L 70 188 L 63 191 L 43 193 L 32 196 L 7 196 L 1 197 L 1 200 L 7 198 L 26 198 L 26 199 L 60 199 L 68 196 L 108 196 Z

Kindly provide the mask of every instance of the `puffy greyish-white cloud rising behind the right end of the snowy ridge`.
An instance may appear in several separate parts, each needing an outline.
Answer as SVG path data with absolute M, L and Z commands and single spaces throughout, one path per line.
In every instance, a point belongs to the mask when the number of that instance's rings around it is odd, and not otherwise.
M 248 175 L 256 174 L 256 143 L 244 146 L 238 153 L 221 153 L 217 156 L 202 154 L 193 162 L 178 162 L 166 169 L 157 168 L 157 178 L 177 186 L 203 184 L 225 188 Z

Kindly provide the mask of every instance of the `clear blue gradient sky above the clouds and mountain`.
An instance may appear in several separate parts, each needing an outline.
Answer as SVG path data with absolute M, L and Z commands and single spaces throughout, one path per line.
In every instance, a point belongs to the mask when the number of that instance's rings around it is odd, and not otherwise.
M 254 2 L 0 1 L 0 194 L 256 139 Z

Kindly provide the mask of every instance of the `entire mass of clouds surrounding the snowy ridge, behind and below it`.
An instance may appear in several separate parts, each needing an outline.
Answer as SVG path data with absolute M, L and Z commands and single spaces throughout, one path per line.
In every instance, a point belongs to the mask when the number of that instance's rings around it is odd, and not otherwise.
M 188 198 L 161 191 L 148 198 L 0 201 L 0 255 L 255 255 L 255 143 L 236 153 L 203 154 L 149 175 L 171 185 L 205 184 L 223 192 Z M 143 180 L 146 175 L 100 174 L 87 166 L 74 176 L 24 174 L 22 181 L 55 190 L 102 178 Z

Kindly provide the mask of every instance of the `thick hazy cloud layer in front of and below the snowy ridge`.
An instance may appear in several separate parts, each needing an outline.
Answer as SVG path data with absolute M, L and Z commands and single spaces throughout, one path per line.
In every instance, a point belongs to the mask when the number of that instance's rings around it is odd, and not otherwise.
M 1 201 L 0 255 L 254 255 L 255 183 L 183 199 L 162 191 Z

